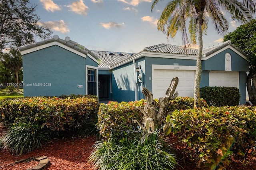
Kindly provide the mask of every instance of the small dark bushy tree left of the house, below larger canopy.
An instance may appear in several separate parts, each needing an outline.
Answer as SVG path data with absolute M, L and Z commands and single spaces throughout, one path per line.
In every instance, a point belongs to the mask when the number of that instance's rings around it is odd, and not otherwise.
M 1 53 L 1 61 L 4 67 L 16 73 L 17 89 L 19 90 L 18 71 L 22 67 L 22 55 L 16 49 L 10 49 L 10 53 Z

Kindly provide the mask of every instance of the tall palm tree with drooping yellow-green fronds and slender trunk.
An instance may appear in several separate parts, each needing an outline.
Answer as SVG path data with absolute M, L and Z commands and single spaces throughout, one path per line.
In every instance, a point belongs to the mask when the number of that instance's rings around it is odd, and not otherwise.
M 154 0 L 151 11 L 159 0 Z M 199 107 L 199 89 L 202 72 L 202 35 L 206 35 L 209 18 L 212 20 L 218 34 L 224 35 L 228 31 L 228 21 L 222 10 L 230 13 L 233 20 L 242 24 L 252 20 L 252 14 L 256 11 L 255 0 L 172 0 L 164 8 L 158 20 L 158 30 L 174 38 L 178 31 L 182 33 L 182 42 L 185 47 L 198 40 L 198 55 L 196 60 L 196 76 L 194 83 L 194 107 Z M 187 20 L 189 20 L 187 35 Z

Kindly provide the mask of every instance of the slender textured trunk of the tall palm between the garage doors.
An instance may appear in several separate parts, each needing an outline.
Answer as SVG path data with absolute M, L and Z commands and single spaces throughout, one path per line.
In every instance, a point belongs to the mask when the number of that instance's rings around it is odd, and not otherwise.
M 199 49 L 196 59 L 196 76 L 194 83 L 194 108 L 199 107 L 200 99 L 200 81 L 202 74 L 202 50 L 203 50 L 203 39 L 202 39 L 202 22 L 203 22 L 203 11 L 198 12 L 197 16 L 197 32 L 198 32 L 198 43 Z

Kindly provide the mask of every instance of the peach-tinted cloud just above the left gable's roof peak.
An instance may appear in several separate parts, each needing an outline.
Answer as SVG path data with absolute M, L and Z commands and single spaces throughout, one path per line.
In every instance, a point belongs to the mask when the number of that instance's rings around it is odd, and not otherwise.
M 59 21 L 48 21 L 48 22 L 38 22 L 40 26 L 46 26 L 54 31 L 59 31 L 63 34 L 69 32 L 67 24 L 63 20 Z

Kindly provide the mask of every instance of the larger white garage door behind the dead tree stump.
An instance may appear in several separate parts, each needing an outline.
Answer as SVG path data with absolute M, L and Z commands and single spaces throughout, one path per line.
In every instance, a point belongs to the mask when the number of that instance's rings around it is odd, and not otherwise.
M 194 96 L 194 70 L 154 69 L 152 79 L 153 98 L 159 99 L 160 97 L 165 97 L 165 92 L 170 86 L 172 78 L 175 76 L 179 78 L 179 83 L 176 88 L 179 96 Z

